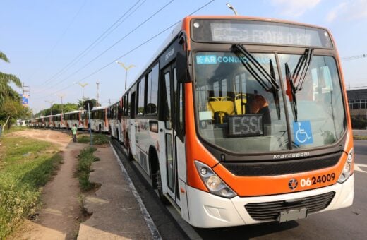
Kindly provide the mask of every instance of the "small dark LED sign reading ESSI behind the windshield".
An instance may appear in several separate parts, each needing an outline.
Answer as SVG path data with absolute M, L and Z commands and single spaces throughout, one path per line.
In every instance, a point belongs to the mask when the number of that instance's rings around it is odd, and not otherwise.
M 229 137 L 262 136 L 263 114 L 228 116 Z

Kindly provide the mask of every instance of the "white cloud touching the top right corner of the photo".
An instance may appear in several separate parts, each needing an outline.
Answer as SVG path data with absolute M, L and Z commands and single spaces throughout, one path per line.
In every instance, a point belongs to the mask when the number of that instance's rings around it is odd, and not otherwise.
M 326 20 L 332 22 L 337 18 L 348 20 L 367 19 L 367 0 L 342 2 L 335 6 L 335 8 L 332 8 L 327 14 Z

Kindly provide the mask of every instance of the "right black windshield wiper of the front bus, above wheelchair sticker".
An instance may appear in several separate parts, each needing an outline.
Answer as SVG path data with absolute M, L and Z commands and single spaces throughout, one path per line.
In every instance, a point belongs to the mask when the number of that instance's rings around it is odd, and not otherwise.
M 291 74 L 291 71 L 289 70 L 288 63 L 285 64 L 287 95 L 289 97 L 289 102 L 291 102 L 291 108 L 295 121 L 298 119 L 296 93 L 301 91 L 303 88 L 303 83 L 306 79 L 308 68 L 311 65 L 312 56 L 313 49 L 306 49 L 299 58 L 296 68 L 294 68 L 293 74 Z

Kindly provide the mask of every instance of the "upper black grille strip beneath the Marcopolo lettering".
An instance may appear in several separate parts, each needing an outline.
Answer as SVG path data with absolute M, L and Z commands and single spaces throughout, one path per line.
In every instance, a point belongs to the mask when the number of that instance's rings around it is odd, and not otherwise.
M 332 155 L 297 160 L 272 160 L 267 162 L 222 162 L 236 176 L 274 176 L 308 172 L 332 167 L 339 162 L 342 152 Z

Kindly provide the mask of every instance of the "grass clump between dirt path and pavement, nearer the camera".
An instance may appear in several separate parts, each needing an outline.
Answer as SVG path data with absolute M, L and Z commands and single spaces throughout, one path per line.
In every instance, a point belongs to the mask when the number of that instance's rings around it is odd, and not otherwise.
M 99 161 L 98 157 L 93 155 L 93 152 L 97 150 L 93 147 L 87 147 L 80 151 L 78 155 L 78 167 L 76 169 L 79 186 L 82 191 L 90 191 L 97 186 L 97 184 L 89 181 L 89 173 L 92 172 L 90 167 L 92 162 Z

